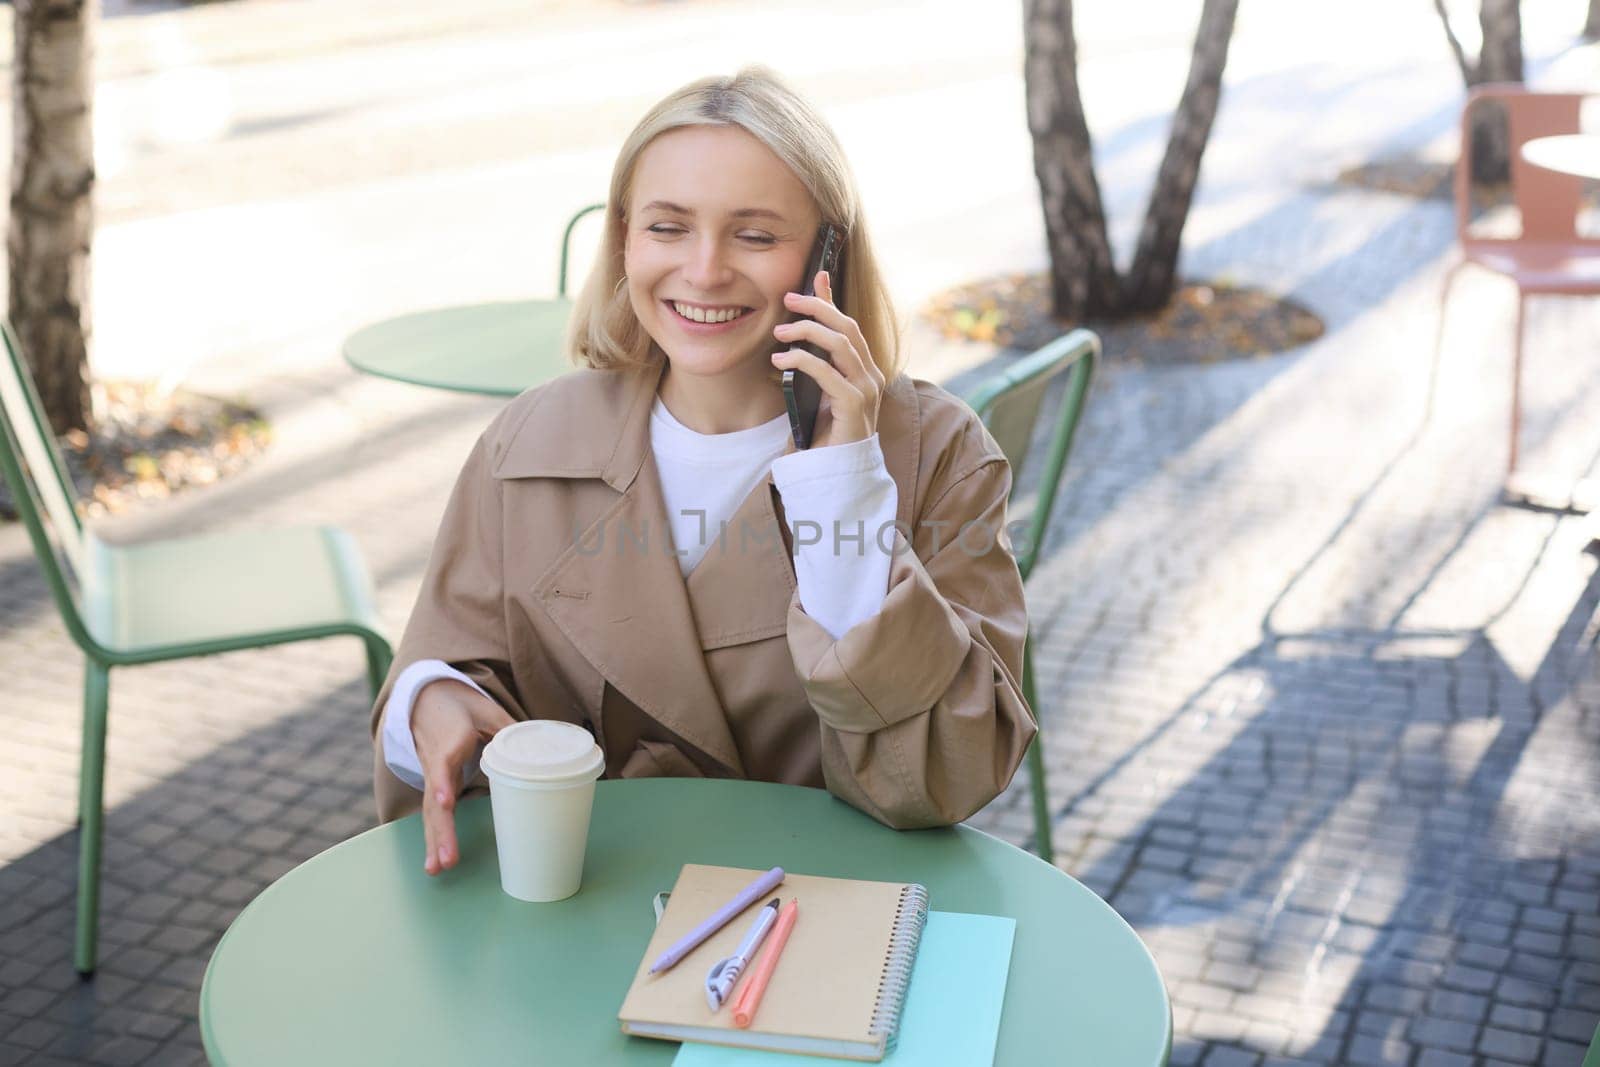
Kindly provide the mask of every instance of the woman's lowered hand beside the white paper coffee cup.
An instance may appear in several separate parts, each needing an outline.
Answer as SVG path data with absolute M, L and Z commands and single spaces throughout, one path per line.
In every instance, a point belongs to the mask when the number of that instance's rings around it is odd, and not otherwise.
M 512 725 L 499 704 L 454 678 L 429 681 L 411 705 L 411 737 L 422 763 L 422 870 L 437 875 L 461 859 L 456 795 L 461 768 L 480 744 Z

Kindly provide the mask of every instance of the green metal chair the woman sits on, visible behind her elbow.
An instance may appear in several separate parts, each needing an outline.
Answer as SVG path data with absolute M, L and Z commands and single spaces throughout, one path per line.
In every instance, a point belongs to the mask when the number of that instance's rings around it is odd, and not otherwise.
M 1045 472 L 1038 480 L 1038 493 L 1034 496 L 1032 514 L 1027 518 L 1027 541 L 1016 545 L 1016 568 L 1022 573 L 1024 582 L 1038 560 L 1038 547 L 1050 526 L 1050 510 L 1056 502 L 1061 472 L 1067 466 L 1072 438 L 1083 416 L 1099 352 L 1098 336 L 1088 330 L 1074 330 L 982 382 L 968 398 L 973 411 L 984 421 L 1011 462 L 1011 504 L 1016 506 L 1019 502 L 1016 486 L 1022 483 L 1022 467 L 1027 464 L 1029 445 L 1034 440 L 1034 426 L 1038 422 L 1045 390 L 1061 374 L 1069 376 L 1061 411 L 1056 414 L 1056 429 L 1050 437 Z M 1022 653 L 1022 696 L 1027 697 L 1027 705 L 1034 709 L 1034 713 L 1040 715 L 1038 696 L 1034 689 L 1032 629 Z M 1056 854 L 1050 843 L 1050 793 L 1045 784 L 1043 731 L 1029 745 L 1027 773 L 1034 785 L 1035 849 L 1046 864 L 1053 864 Z

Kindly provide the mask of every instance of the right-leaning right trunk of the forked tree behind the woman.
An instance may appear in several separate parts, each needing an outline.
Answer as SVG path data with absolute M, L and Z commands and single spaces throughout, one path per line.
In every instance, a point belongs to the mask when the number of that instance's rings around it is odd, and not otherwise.
M 1200 10 L 1189 82 L 1173 115 L 1166 155 L 1155 176 L 1155 192 L 1150 194 L 1123 286 L 1125 312 L 1155 310 L 1178 288 L 1178 251 L 1222 93 L 1222 67 L 1227 66 L 1227 43 L 1234 37 L 1237 11 L 1238 0 L 1205 0 Z

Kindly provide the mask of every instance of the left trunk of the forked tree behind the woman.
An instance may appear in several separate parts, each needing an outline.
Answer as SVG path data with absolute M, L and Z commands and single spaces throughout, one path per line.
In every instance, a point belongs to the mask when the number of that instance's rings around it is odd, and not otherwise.
M 1118 278 L 1078 94 L 1072 0 L 1024 0 L 1022 19 L 1027 128 L 1045 210 L 1053 310 L 1069 320 L 1112 315 L 1120 304 Z

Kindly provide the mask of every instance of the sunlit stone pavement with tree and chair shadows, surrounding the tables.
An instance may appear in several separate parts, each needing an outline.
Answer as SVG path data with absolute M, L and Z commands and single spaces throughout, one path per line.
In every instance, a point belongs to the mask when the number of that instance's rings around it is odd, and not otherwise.
M 360 379 L 339 339 L 550 291 L 560 224 L 627 125 L 744 59 L 837 123 L 904 309 L 1042 266 L 1021 19 L 786 6 L 107 19 L 98 368 L 242 394 L 280 438 L 112 531 L 338 522 L 398 630 L 496 405 Z M 1198 5 L 1083 6 L 1126 240 Z M 1600 1017 L 1600 582 L 1578 518 L 1498 502 L 1512 294 L 1464 275 L 1435 360 L 1450 206 L 1328 184 L 1384 152 L 1448 155 L 1458 75 L 1426 5 L 1394 6 L 1245 5 L 1186 269 L 1290 291 L 1328 333 L 1213 366 L 1112 354 L 1029 590 L 1058 857 L 1155 952 L 1179 1064 L 1578 1064 Z M 1528 18 L 1534 77 L 1595 85 L 1576 5 Z M 1525 466 L 1594 474 L 1597 312 L 1544 302 L 1530 323 Z M 1008 358 L 910 341 L 957 389 Z M 117 673 L 102 969 L 80 987 L 82 664 L 14 526 L 0 633 L 0 1062 L 198 1061 L 226 925 L 371 822 L 360 651 Z M 1026 782 L 974 824 L 1026 841 Z

